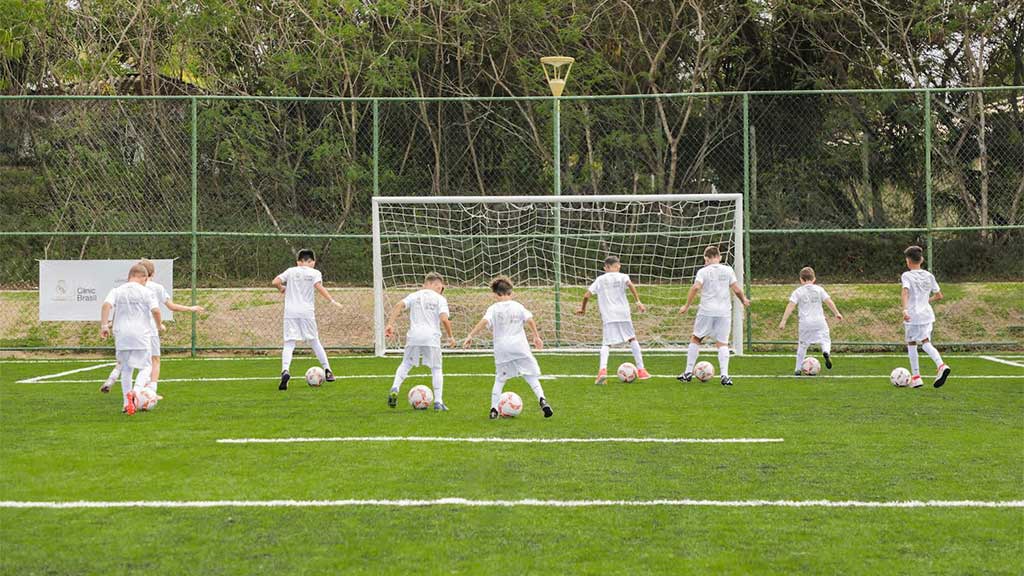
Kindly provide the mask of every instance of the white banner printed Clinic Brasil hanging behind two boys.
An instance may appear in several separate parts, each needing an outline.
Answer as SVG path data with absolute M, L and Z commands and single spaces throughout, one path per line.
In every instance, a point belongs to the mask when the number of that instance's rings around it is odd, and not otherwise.
M 39 320 L 99 321 L 108 292 L 128 281 L 128 270 L 138 260 L 39 260 Z M 171 293 L 174 260 L 153 260 L 153 277 Z M 173 299 L 173 297 L 172 297 Z M 161 303 L 164 320 L 171 311 Z

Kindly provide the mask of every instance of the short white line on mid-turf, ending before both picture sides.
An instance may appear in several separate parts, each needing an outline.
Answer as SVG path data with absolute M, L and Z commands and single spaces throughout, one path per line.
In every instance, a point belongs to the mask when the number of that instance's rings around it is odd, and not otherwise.
M 221 438 L 217 444 L 293 444 L 301 442 L 465 442 L 469 444 L 769 444 L 781 438 L 458 438 L 358 436 L 327 438 Z

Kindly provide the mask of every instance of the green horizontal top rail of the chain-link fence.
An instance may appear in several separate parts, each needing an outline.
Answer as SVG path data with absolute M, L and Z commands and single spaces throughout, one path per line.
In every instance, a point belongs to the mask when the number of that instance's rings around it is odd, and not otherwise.
M 156 95 L 156 94 L 0 94 L 3 100 L 259 100 L 319 102 L 416 102 L 416 101 L 516 101 L 516 100 L 601 100 L 706 98 L 725 96 L 799 96 L 828 94 L 914 94 L 942 92 L 997 92 L 1024 90 L 1021 86 L 930 86 L 923 88 L 838 88 L 816 90 L 737 90 L 719 92 L 666 92 L 660 94 L 566 94 L 537 96 L 255 96 L 231 94 Z

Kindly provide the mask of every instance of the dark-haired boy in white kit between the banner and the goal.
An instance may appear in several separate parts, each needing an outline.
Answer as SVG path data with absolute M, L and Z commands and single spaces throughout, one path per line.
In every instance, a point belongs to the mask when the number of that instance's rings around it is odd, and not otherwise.
M 316 270 L 316 257 L 309 249 L 299 250 L 295 265 L 286 270 L 273 279 L 273 287 L 285 293 L 285 346 L 281 353 L 281 384 L 280 390 L 288 389 L 288 380 L 292 377 L 288 369 L 292 365 L 292 354 L 295 345 L 302 340 L 316 354 L 316 360 L 324 367 L 324 374 L 329 382 L 334 381 L 331 363 L 327 359 L 327 351 L 319 341 L 316 329 L 316 308 L 314 300 L 316 293 L 341 307 L 331 293 L 324 288 L 324 275 Z

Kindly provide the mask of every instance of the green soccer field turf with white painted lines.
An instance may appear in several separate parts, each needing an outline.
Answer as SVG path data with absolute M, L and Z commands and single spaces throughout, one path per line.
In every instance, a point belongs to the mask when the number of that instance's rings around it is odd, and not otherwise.
M 734 358 L 723 387 L 649 354 L 595 386 L 596 354 L 539 355 L 554 417 L 516 379 L 496 421 L 489 356 L 445 359 L 446 413 L 386 406 L 397 358 L 284 393 L 276 358 L 169 358 L 131 417 L 108 361 L 2 360 L 0 571 L 1019 574 L 1024 357 L 946 359 L 940 389 L 890 385 L 899 355 Z

